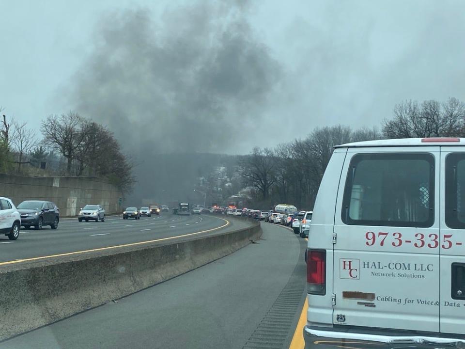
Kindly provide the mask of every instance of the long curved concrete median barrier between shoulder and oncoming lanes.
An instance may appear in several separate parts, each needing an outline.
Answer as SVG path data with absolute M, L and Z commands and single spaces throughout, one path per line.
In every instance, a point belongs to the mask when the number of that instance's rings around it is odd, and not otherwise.
M 260 224 L 169 244 L 131 246 L 0 268 L 0 340 L 154 286 L 260 238 Z M 186 285 L 188 287 L 188 285 Z

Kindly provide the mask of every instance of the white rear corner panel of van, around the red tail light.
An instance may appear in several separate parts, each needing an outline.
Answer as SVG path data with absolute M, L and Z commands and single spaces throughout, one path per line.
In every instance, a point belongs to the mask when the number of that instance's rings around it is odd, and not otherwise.
M 325 209 L 318 210 L 317 214 L 313 212 L 310 223 L 309 244 L 311 241 L 312 248 L 326 250 L 326 275 L 328 276 L 326 278 L 325 295 L 308 294 L 309 310 L 307 312 L 307 322 L 310 325 L 332 326 L 333 324 L 333 279 L 329 276 L 331 275 L 330 270 L 333 269 L 334 197 L 338 195 L 337 183 L 339 183 L 341 177 L 341 169 L 344 164 L 346 151 L 347 149 L 337 149 L 331 156 L 325 170 L 324 177 L 327 180 L 322 181 L 318 189 L 319 192 L 324 192 L 325 195 L 317 195 L 314 205 L 315 207 L 325 207 Z

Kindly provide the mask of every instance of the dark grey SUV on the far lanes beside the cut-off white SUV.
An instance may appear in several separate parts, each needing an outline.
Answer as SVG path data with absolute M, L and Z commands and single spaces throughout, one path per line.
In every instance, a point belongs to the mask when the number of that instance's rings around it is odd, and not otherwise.
M 50 225 L 52 229 L 58 228 L 60 209 L 50 201 L 23 201 L 16 208 L 21 215 L 21 225 L 25 229 L 34 226 L 35 229 L 39 230 L 44 225 Z

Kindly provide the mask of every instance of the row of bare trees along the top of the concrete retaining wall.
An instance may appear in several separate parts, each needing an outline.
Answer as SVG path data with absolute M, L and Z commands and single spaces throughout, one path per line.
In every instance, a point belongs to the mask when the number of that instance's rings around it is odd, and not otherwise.
M 113 134 L 107 127 L 76 112 L 48 116 L 41 124 L 40 133 L 27 127 L 25 122 L 8 120 L 3 115 L 0 130 L 0 171 L 3 173 L 23 174 L 21 165 L 39 167 L 56 153 L 66 163 L 65 170 L 56 174 L 106 177 L 124 192 L 132 190 L 134 164 L 123 154 Z M 43 136 L 40 142 L 38 133 Z

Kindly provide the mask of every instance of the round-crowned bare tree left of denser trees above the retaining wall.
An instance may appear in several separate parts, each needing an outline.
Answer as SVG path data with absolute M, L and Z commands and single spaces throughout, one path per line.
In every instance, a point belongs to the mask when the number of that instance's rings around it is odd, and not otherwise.
M 50 115 L 42 122 L 44 141 L 55 147 L 67 160 L 66 171 L 71 173 L 71 165 L 76 152 L 84 141 L 84 119 L 76 112 L 68 112 L 60 117 Z

